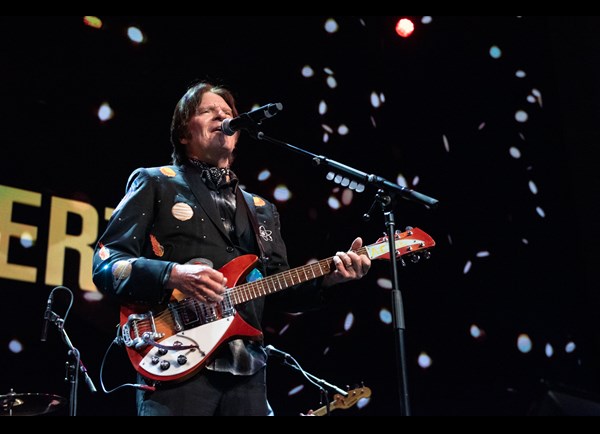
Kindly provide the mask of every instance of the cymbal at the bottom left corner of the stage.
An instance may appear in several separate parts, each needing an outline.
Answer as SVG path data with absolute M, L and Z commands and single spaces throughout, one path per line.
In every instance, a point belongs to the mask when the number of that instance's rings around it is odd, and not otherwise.
M 66 402 L 47 393 L 9 393 L 0 395 L 0 416 L 39 416 L 51 413 Z

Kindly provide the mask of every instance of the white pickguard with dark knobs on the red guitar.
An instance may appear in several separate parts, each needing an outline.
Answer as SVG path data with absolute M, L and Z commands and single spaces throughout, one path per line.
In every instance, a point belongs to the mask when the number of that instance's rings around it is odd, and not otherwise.
M 160 341 L 161 345 L 175 346 L 180 342 L 181 345 L 197 345 L 200 350 L 169 350 L 167 354 L 161 356 L 158 348 L 152 348 L 140 362 L 140 367 L 146 372 L 159 377 L 169 377 L 172 375 L 185 374 L 185 372 L 198 366 L 199 363 L 208 357 L 220 343 L 221 339 L 231 326 L 234 316 L 222 318 L 220 320 L 186 330 L 167 339 Z M 187 361 L 180 365 L 177 361 L 179 356 L 185 356 Z M 152 358 L 157 356 L 158 363 L 152 363 Z M 161 362 L 169 362 L 168 369 L 161 369 Z

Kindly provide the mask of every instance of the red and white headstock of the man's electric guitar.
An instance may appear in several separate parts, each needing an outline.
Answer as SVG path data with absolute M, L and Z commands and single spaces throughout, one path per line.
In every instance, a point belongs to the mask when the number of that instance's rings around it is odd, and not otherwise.
M 430 235 L 419 228 L 411 228 L 405 232 L 397 231 L 394 237 L 396 259 L 408 255 L 413 262 L 418 262 L 421 257 L 429 258 L 429 249 L 435 246 L 435 241 Z M 390 259 L 388 237 L 379 238 L 375 244 L 367 246 L 371 259 Z

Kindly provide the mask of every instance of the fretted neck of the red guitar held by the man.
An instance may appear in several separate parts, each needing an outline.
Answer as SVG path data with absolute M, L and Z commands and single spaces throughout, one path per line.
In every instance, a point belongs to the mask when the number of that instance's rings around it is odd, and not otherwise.
M 366 247 L 354 251 L 357 255 L 368 255 Z M 234 287 L 229 292 L 229 298 L 234 305 L 245 303 L 265 295 L 283 291 L 291 286 L 310 280 L 318 279 L 329 274 L 335 268 L 333 256 L 302 267 L 265 277 L 254 282 L 244 283 Z

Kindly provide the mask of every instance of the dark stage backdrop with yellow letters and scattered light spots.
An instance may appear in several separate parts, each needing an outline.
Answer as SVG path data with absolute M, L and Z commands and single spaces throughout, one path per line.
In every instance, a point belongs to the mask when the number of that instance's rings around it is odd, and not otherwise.
M 436 211 L 395 206 L 400 228 L 437 242 L 429 261 L 400 270 L 414 414 L 542 414 L 549 390 L 596 400 L 597 17 L 411 17 L 405 39 L 397 16 L 100 18 L 101 29 L 0 18 L 0 394 L 69 395 L 66 346 L 54 327 L 40 342 L 60 284 L 75 294 L 66 330 L 100 388 L 118 311 L 89 287 L 93 243 L 128 175 L 169 162 L 173 108 L 209 78 L 240 111 L 283 103 L 265 133 L 440 200 Z M 104 103 L 113 116 L 102 122 Z M 277 203 L 292 266 L 385 230 L 381 213 L 361 219 L 374 191 L 336 189 L 288 150 L 244 134 L 234 170 Z M 289 200 L 275 198 L 282 186 Z M 324 309 L 265 318 L 266 343 L 307 371 L 372 390 L 334 416 L 399 414 L 386 279 L 377 262 Z M 55 310 L 66 302 L 58 294 Z M 134 380 L 123 349 L 104 371 L 108 388 Z M 273 360 L 269 398 L 297 415 L 320 396 Z M 78 413 L 133 415 L 133 401 L 133 389 L 81 384 Z

